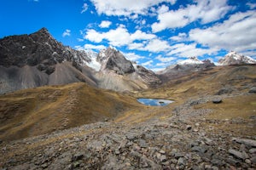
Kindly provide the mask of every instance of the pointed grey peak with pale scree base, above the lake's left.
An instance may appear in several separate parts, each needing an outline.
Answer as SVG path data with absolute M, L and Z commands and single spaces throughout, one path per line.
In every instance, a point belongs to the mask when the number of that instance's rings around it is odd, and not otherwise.
M 96 73 L 96 77 L 102 79 L 99 84 L 100 88 L 119 91 L 119 88 L 131 90 L 129 87 L 137 89 L 152 88 L 161 83 L 160 78 L 154 71 L 149 71 L 142 65 L 137 65 L 125 59 L 125 56 L 115 48 L 102 49 L 96 60 L 102 65 L 100 71 Z M 127 81 L 120 83 L 124 79 Z M 117 86 L 118 84 L 120 86 Z

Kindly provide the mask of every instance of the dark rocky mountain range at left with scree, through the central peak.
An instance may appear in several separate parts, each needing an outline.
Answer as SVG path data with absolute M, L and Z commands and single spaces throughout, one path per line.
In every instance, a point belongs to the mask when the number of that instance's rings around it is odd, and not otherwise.
M 57 42 L 46 28 L 0 39 L 0 94 L 23 88 L 86 82 L 116 91 L 149 88 L 159 83 L 151 71 L 136 71 L 114 48 L 99 54 Z M 152 79 L 148 79 L 148 75 Z M 152 82 L 155 80 L 156 82 Z

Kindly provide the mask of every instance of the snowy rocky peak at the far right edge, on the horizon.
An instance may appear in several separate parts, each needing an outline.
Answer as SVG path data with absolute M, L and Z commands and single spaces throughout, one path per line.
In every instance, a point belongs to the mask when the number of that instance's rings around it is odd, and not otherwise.
M 256 64 L 256 60 L 242 54 L 237 54 L 235 51 L 231 51 L 229 54 L 226 54 L 223 59 L 219 59 L 218 64 L 219 65 Z

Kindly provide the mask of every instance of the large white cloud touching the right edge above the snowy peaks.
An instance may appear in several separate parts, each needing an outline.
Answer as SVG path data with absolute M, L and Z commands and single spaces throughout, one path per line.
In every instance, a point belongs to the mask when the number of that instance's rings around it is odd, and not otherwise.
M 256 47 L 255 20 L 255 11 L 236 13 L 222 24 L 189 31 L 189 39 L 210 48 L 224 48 L 237 52 L 253 50 Z

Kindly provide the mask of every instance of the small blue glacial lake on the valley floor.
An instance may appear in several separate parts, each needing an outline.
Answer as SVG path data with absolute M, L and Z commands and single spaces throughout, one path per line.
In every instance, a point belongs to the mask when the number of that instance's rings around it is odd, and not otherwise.
M 138 98 L 137 101 L 143 105 L 151 105 L 151 106 L 165 106 L 174 102 L 169 99 L 149 99 L 149 98 Z

